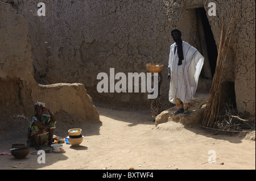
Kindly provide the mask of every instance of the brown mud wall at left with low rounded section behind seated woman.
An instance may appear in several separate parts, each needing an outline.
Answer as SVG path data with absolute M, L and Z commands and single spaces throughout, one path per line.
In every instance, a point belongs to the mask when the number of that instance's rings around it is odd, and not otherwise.
M 34 115 L 34 103 L 45 102 L 54 113 L 68 113 L 82 121 L 99 121 L 92 98 L 79 83 L 39 85 L 34 79 L 27 19 L 0 1 L 0 122 L 17 115 Z M 61 120 L 71 121 L 71 120 Z M 22 123 L 27 124 L 27 123 Z

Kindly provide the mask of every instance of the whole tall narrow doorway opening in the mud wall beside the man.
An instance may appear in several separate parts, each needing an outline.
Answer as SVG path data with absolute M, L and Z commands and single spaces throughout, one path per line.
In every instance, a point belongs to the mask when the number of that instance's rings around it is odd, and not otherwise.
M 214 40 L 212 28 L 207 18 L 204 7 L 195 9 L 197 17 L 197 29 L 201 44 L 201 53 L 205 57 L 201 77 L 212 79 L 218 57 L 217 45 Z

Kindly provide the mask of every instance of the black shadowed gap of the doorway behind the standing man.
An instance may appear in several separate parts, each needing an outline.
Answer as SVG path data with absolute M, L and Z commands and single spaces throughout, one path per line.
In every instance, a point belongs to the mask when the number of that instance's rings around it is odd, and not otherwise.
M 203 30 L 199 30 L 199 32 L 201 31 L 201 36 L 200 35 L 199 36 L 200 36 L 200 39 L 204 39 L 203 41 L 201 40 L 201 42 L 204 42 L 203 44 L 201 43 L 201 48 L 206 44 L 205 51 L 207 51 L 207 53 L 205 54 L 207 54 L 208 60 L 205 57 L 205 61 L 209 61 L 209 63 L 208 62 L 205 62 L 205 63 L 209 64 L 210 74 L 212 74 L 212 77 L 213 77 L 215 68 L 216 68 L 217 57 L 218 57 L 216 42 L 214 40 L 212 29 L 210 28 L 210 23 L 207 18 L 207 12 L 205 11 L 204 7 L 200 7 L 196 9 L 196 16 L 197 16 L 197 23 L 200 24 L 199 28 L 201 29 L 203 28 Z M 208 78 L 209 76 L 208 77 L 203 76 L 203 77 Z

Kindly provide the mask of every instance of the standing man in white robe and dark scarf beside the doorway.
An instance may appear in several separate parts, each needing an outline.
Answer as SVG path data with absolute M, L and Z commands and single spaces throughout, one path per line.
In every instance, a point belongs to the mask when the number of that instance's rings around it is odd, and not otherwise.
M 174 114 L 189 114 L 190 102 L 195 95 L 199 75 L 204 64 L 204 57 L 199 51 L 181 40 L 181 32 L 172 30 L 175 41 L 171 45 L 169 56 L 170 90 L 169 101 L 174 103 L 177 111 Z

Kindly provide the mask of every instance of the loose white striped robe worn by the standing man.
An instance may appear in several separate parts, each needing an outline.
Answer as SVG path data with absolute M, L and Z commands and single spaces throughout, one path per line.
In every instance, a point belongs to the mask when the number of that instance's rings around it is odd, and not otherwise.
M 183 103 L 189 103 L 193 99 L 197 89 L 199 75 L 204 64 L 204 57 L 196 48 L 183 41 L 184 60 L 179 66 L 177 65 L 179 62 L 177 49 L 174 54 L 175 45 L 176 43 L 171 45 L 168 65 L 171 69 L 169 101 L 175 104 L 174 98 L 179 98 Z

